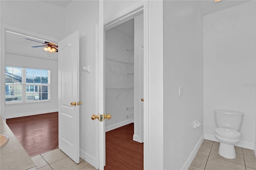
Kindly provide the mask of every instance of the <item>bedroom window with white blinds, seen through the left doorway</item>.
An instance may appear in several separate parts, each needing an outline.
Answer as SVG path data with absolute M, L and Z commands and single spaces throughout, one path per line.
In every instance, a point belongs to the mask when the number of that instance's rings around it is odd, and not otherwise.
M 50 99 L 50 70 L 6 66 L 5 83 L 6 102 Z

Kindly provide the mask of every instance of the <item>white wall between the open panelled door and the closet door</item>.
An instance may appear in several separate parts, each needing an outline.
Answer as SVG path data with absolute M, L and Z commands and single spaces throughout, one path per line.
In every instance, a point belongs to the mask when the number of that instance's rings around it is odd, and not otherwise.
M 93 166 L 98 166 L 96 155 L 98 121 L 96 108 L 96 24 L 99 23 L 99 1 L 74 0 L 65 8 L 66 36 L 80 32 L 80 157 Z M 90 73 L 82 68 L 90 65 Z

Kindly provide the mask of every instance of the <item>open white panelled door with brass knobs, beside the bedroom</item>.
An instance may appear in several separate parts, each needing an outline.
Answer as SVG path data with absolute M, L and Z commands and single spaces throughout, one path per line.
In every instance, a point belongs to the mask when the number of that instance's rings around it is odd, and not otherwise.
M 79 163 L 79 32 L 58 43 L 59 148 Z

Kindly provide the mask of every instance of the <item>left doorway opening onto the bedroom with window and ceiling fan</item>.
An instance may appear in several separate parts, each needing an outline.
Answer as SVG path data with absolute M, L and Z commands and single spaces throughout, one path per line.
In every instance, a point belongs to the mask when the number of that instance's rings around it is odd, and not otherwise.
M 1 109 L 4 111 L 1 117 L 7 119 L 8 125 L 12 121 L 16 130 L 22 129 L 22 133 L 26 134 L 21 136 L 21 132 L 16 131 L 20 135 L 16 138 L 20 143 L 23 143 L 21 140 L 26 143 L 26 148 L 31 151 L 30 156 L 52 150 L 58 147 L 58 108 L 55 106 L 58 105 L 58 91 L 54 91 L 58 89 L 58 53 L 46 53 L 43 50 L 45 44 L 42 43 L 57 40 L 12 26 L 3 25 L 2 28 Z M 22 124 L 22 121 L 29 123 L 28 117 L 32 117 L 29 127 Z M 19 121 L 22 119 L 18 122 L 18 128 L 16 118 Z M 49 122 L 54 122 L 54 126 Z M 31 132 L 33 135 L 28 134 Z M 51 135 L 54 137 L 47 140 L 51 144 L 43 141 Z M 34 142 L 42 142 L 39 144 L 42 147 L 33 148 Z

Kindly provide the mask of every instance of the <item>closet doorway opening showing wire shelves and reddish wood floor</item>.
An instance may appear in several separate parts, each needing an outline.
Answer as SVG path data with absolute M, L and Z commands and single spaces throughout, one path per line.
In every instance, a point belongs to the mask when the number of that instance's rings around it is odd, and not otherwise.
M 142 157 L 143 168 L 143 24 L 143 14 L 138 13 L 104 29 L 104 110 L 112 115 L 112 119 L 106 121 L 106 167 L 109 166 L 108 156 L 111 155 L 108 150 L 111 148 L 108 146 L 109 136 L 114 138 L 122 132 L 124 138 L 128 138 L 126 142 L 138 143 L 138 147 L 142 148 L 142 156 L 138 157 Z M 124 143 L 122 140 L 120 138 L 120 143 Z

